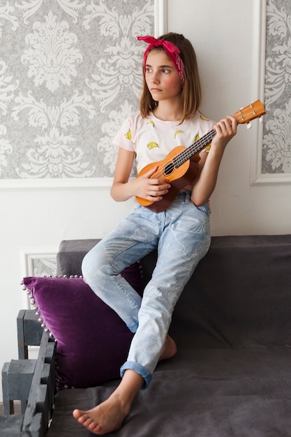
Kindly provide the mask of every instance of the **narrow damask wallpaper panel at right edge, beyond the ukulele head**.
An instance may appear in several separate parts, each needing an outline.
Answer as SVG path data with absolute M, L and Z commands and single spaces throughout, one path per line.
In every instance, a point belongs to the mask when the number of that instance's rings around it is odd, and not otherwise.
M 291 173 L 291 2 L 267 1 L 262 174 Z

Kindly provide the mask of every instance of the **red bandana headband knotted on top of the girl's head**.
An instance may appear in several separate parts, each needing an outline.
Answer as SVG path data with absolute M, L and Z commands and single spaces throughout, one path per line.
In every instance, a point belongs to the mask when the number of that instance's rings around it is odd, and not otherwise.
M 154 36 L 137 36 L 137 39 L 140 41 L 144 41 L 145 43 L 148 43 L 149 46 L 147 47 L 146 51 L 144 52 L 144 71 L 145 71 L 145 64 L 147 61 L 147 54 L 149 53 L 149 50 L 153 49 L 154 47 L 162 46 L 165 52 L 167 53 L 167 56 L 171 59 L 172 63 L 174 64 L 174 67 L 176 68 L 177 72 L 179 73 L 182 85 L 184 85 L 184 62 L 182 61 L 181 57 L 179 56 L 180 50 L 177 47 L 177 45 L 174 45 L 170 41 L 167 40 L 157 40 L 154 38 Z

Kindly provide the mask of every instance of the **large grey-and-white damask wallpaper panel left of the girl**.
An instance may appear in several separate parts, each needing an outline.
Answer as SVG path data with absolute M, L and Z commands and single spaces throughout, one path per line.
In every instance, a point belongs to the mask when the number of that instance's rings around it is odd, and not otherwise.
M 0 178 L 112 177 L 154 0 L 0 0 Z

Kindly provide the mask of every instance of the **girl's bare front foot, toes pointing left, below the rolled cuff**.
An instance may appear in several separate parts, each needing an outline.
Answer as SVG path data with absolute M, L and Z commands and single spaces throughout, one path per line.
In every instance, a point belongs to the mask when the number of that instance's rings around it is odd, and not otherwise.
M 100 403 L 95 408 L 88 411 L 74 410 L 73 416 L 97 436 L 118 431 L 122 427 L 125 417 L 129 413 L 129 407 L 124 406 L 124 402 L 119 399 L 117 394 L 112 394 L 107 401 Z

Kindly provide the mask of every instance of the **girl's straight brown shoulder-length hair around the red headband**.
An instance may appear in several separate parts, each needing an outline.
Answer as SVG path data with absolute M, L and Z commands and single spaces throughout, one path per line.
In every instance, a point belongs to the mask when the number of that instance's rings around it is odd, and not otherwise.
M 190 119 L 199 110 L 202 100 L 202 89 L 200 76 L 197 66 L 197 58 L 195 50 L 191 42 L 181 34 L 170 32 L 160 36 L 158 39 L 164 39 L 177 45 L 181 53 L 179 56 L 184 62 L 184 87 L 181 91 L 182 117 L 181 123 Z M 163 50 L 163 47 L 154 47 L 155 50 Z M 142 117 L 147 118 L 150 112 L 154 111 L 158 106 L 158 102 L 151 97 L 151 93 L 147 87 L 145 76 L 143 80 L 143 89 L 140 96 L 140 113 Z

